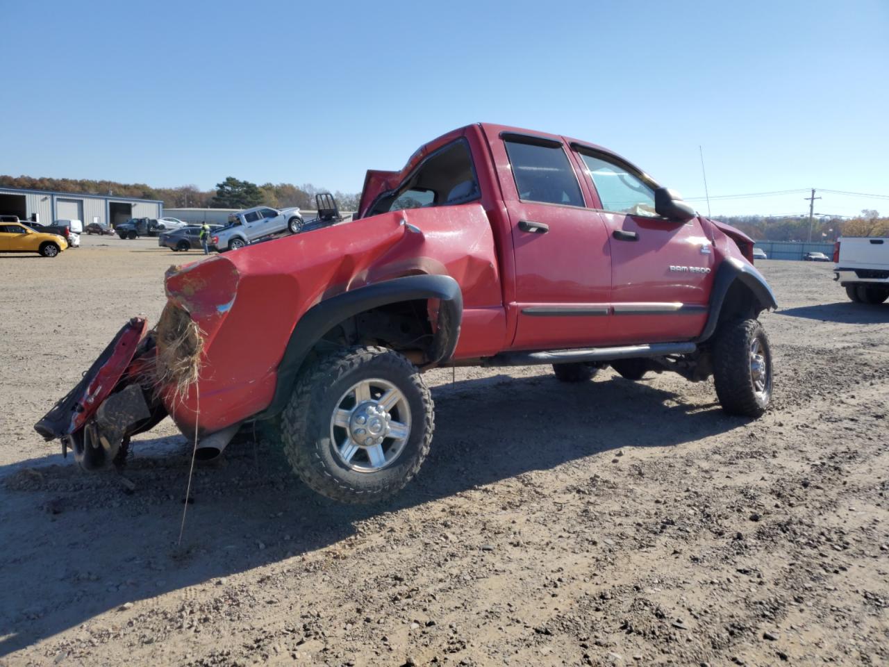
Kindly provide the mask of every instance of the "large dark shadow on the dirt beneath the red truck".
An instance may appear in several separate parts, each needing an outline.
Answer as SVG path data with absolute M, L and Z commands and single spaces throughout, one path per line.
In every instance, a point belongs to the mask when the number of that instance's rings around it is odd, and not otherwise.
M 222 577 L 287 559 L 296 559 L 285 567 L 299 573 L 300 559 L 318 558 L 317 550 L 369 530 L 382 534 L 392 511 L 504 479 L 533 484 L 525 473 L 562 464 L 605 474 L 611 457 L 583 459 L 622 446 L 676 446 L 745 422 L 713 403 L 683 403 L 670 391 L 607 374 L 579 384 L 493 376 L 432 391 L 432 451 L 393 501 L 329 502 L 292 477 L 275 446 L 247 433 L 220 462 L 196 470 L 181 546 L 191 452 L 185 438 L 134 442 L 124 470 L 132 491 L 114 472 L 86 474 L 58 454 L 0 468 L 0 655 L 125 603 L 150 613 L 153 598 L 178 591 L 184 599 L 190 586 L 218 585 L 224 603 L 231 584 L 220 584 Z

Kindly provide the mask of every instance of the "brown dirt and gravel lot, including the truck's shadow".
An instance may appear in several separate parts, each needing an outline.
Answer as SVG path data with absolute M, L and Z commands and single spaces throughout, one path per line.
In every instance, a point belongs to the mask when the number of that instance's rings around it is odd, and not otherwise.
M 0 255 L 0 664 L 889 663 L 889 305 L 831 265 L 760 262 L 781 310 L 757 422 L 668 374 L 436 371 L 396 502 L 326 502 L 241 438 L 197 470 L 177 547 L 171 422 L 134 443 L 130 494 L 32 424 L 184 259 Z

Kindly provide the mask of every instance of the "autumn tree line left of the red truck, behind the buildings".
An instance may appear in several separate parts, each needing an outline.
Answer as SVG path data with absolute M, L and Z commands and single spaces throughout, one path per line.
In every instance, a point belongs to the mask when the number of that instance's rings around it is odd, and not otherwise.
M 216 184 L 216 189 L 202 190 L 194 185 L 179 188 L 152 188 L 145 183 L 118 183 L 117 181 L 92 181 L 89 179 L 53 179 L 33 176 L 0 175 L 0 187 L 35 190 L 52 190 L 82 195 L 112 195 L 116 197 L 137 197 L 140 199 L 160 199 L 165 208 L 249 208 L 267 205 L 275 208 L 299 206 L 314 210 L 315 195 L 329 192 L 316 188 L 311 183 L 301 186 L 292 183 L 264 183 L 257 185 L 250 181 L 239 181 L 228 176 Z M 341 211 L 355 211 L 360 195 L 333 193 Z

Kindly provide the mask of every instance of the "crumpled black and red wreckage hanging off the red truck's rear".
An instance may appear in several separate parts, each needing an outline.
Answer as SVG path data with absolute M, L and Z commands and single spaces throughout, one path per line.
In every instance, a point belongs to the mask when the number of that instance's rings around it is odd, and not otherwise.
M 84 470 L 120 462 L 130 438 L 167 414 L 153 390 L 156 344 L 147 330 L 142 317 L 127 322 L 76 387 L 34 425 L 46 440 L 60 439 L 62 454 L 72 450 Z

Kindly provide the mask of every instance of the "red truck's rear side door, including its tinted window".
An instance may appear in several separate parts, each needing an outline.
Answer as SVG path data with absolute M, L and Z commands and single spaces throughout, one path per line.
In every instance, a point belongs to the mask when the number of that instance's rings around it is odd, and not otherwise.
M 516 270 L 515 349 L 607 342 L 608 232 L 587 208 L 563 142 L 518 133 L 488 137 L 509 214 Z

